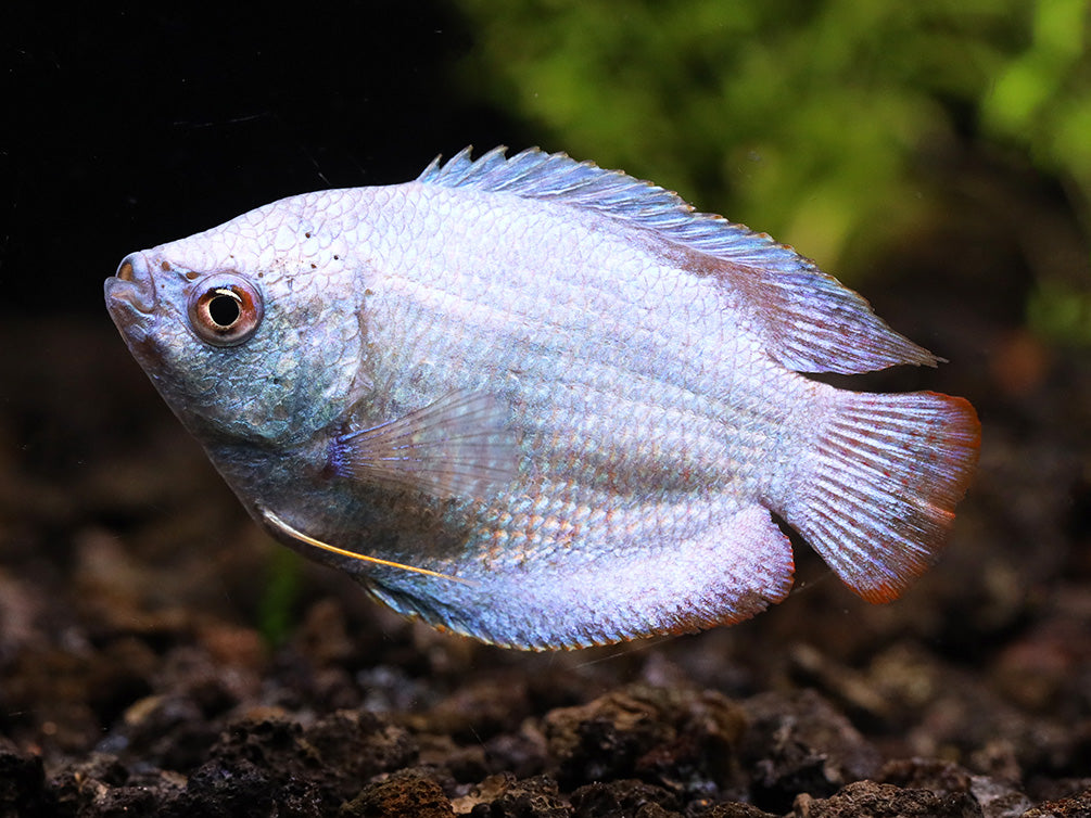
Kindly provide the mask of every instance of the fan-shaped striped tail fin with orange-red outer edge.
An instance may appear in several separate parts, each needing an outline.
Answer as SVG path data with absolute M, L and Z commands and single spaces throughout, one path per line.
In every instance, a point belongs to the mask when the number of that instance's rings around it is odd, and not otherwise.
M 835 400 L 784 516 L 853 591 L 889 602 L 943 548 L 981 424 L 969 401 L 934 392 Z

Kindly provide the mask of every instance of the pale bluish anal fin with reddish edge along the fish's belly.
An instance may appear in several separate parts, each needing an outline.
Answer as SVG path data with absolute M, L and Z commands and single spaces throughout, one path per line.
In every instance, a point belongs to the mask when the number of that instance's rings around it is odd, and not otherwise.
M 403 614 L 524 650 L 694 633 L 750 618 L 788 594 L 792 549 L 767 509 L 714 502 L 674 510 L 676 520 L 690 518 L 680 522 L 688 536 L 669 524 L 657 530 L 647 522 L 652 509 L 634 507 L 615 515 L 618 540 L 585 531 L 549 561 L 467 572 L 469 585 L 404 575 L 372 592 Z M 700 517 L 706 524 L 691 525 Z

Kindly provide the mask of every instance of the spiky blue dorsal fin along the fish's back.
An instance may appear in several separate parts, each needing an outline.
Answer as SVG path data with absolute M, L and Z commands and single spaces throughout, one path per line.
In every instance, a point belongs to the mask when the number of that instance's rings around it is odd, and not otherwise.
M 683 260 L 681 266 L 716 275 L 744 293 L 742 308 L 754 318 L 769 353 L 789 369 L 851 374 L 898 363 L 935 365 L 939 360 L 892 330 L 867 301 L 811 260 L 765 233 L 697 213 L 678 194 L 651 182 L 538 148 L 507 158 L 500 146 L 476 160 L 470 151 L 464 148 L 445 164 L 436 157 L 417 181 L 595 210 L 700 254 L 699 263 Z

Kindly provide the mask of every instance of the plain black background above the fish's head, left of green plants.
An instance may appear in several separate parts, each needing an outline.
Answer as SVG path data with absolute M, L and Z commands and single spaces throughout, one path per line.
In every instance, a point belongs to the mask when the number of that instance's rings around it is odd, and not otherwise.
M 131 250 L 524 141 L 448 81 L 472 38 L 444 3 L 16 3 L 4 16 L 7 314 L 97 311 Z

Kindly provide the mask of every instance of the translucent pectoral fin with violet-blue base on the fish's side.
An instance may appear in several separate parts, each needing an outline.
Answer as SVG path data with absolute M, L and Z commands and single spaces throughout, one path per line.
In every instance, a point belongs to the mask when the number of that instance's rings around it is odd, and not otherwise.
M 506 404 L 469 389 L 329 444 L 336 474 L 441 498 L 489 498 L 515 477 L 518 457 Z

